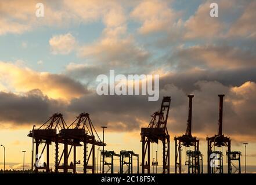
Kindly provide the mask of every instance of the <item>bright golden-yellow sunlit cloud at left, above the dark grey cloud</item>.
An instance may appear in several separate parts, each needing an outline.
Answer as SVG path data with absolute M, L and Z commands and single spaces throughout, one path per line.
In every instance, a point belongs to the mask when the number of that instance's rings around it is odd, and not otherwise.
M 88 92 L 85 85 L 62 74 L 36 72 L 10 62 L 0 62 L 0 66 L 0 84 L 9 91 L 20 93 L 39 89 L 50 98 L 67 101 Z

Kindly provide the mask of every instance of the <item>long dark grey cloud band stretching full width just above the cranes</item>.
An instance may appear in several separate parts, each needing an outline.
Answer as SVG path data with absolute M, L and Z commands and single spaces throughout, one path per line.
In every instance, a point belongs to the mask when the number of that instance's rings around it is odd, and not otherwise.
M 193 133 L 217 134 L 218 94 L 225 94 L 223 133 L 228 136 L 254 136 L 256 131 L 256 84 L 247 82 L 239 87 L 225 86 L 219 82 L 200 81 L 190 93 L 193 98 Z M 1 122 L 41 125 L 55 112 L 64 115 L 66 123 L 81 112 L 88 112 L 96 127 L 107 125 L 110 131 L 138 131 L 146 126 L 153 112 L 160 108 L 163 96 L 172 97 L 168 129 L 170 134 L 180 135 L 186 131 L 188 119 L 187 93 L 174 84 L 165 84 L 157 102 L 148 102 L 147 96 L 117 96 L 86 94 L 70 103 L 49 99 L 41 91 L 33 90 L 24 95 L 0 93 Z

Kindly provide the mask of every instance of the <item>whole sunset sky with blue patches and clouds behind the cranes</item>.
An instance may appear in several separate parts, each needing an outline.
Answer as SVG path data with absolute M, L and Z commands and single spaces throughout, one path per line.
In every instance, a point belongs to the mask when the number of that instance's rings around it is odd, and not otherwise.
M 38 2 L 44 17 L 35 14 Z M 218 4 L 218 17 L 210 16 L 211 3 Z M 140 127 L 164 95 L 172 99 L 171 138 L 185 134 L 188 94 L 194 94 L 192 134 L 206 156 L 205 138 L 218 131 L 218 94 L 225 94 L 223 133 L 232 150 L 243 152 L 248 142 L 247 162 L 256 165 L 255 9 L 253 0 L 1 0 L 0 143 L 6 160 L 21 163 L 21 150 L 27 150 L 30 161 L 28 131 L 56 112 L 66 123 L 88 112 L 101 137 L 100 126 L 107 126 L 107 150 L 141 154 Z M 160 98 L 99 96 L 96 77 L 113 69 L 160 75 Z M 173 147 L 171 139 L 172 165 Z

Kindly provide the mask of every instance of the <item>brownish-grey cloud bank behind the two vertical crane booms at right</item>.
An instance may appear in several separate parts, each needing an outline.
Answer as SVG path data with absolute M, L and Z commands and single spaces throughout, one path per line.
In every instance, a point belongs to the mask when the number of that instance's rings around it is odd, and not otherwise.
M 218 82 L 201 81 L 192 91 L 193 131 L 204 134 L 217 134 L 218 131 L 218 94 L 225 94 L 223 112 L 223 133 L 226 135 L 251 135 L 256 131 L 254 105 L 256 84 L 244 83 L 240 87 L 227 87 Z M 181 94 L 185 99 L 185 94 Z M 188 117 L 188 100 L 183 105 L 174 107 L 170 116 L 175 120 L 170 129 L 185 132 Z M 183 125 L 181 128 L 181 125 Z

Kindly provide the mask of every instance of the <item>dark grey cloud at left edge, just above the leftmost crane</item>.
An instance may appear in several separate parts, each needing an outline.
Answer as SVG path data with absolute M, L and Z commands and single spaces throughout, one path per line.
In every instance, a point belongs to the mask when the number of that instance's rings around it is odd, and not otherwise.
M 20 124 L 42 124 L 55 112 L 62 112 L 64 104 L 32 90 L 24 95 L 0 92 L 0 122 Z

